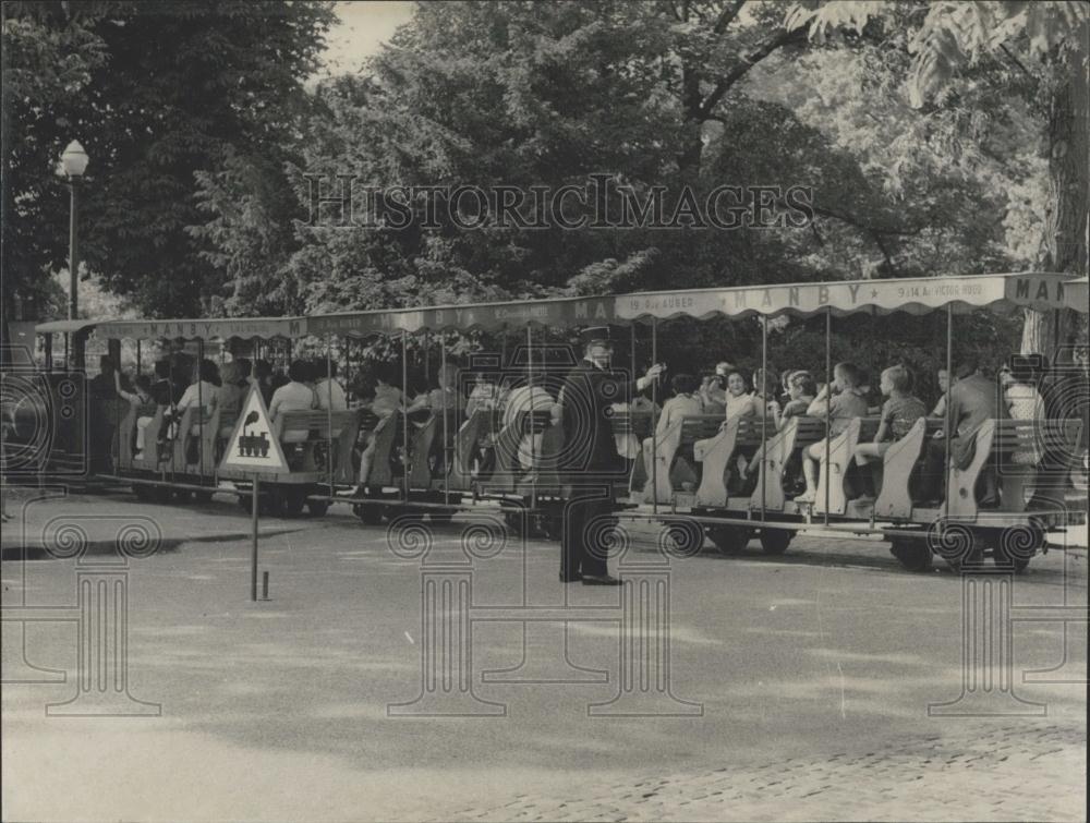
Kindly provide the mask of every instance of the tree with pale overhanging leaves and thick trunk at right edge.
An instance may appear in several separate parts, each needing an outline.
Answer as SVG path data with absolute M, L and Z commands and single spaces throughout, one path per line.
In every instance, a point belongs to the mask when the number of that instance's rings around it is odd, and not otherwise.
M 873 2 L 804 3 L 787 17 L 788 28 L 811 38 L 831 29 L 860 32 L 875 17 L 891 20 L 891 5 Z M 904 19 L 900 21 L 904 23 Z M 980 74 L 1021 75 L 1009 89 L 1044 100 L 1044 156 L 1049 206 L 1039 265 L 1087 274 L 1090 229 L 1090 84 L 1087 51 L 1090 8 L 1078 2 L 937 2 L 911 23 L 915 56 L 908 88 L 917 107 L 958 106 L 979 93 Z M 1077 328 L 1070 313 L 1027 312 L 1025 352 L 1052 352 Z

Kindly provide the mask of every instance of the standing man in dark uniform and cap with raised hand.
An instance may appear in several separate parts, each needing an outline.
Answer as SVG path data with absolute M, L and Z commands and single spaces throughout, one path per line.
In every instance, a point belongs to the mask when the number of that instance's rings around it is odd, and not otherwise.
M 613 483 L 623 477 L 625 460 L 617 453 L 609 425 L 609 407 L 629 402 L 662 372 L 653 365 L 638 380 L 610 372 L 613 343 L 608 327 L 581 335 L 583 359 L 564 380 L 559 402 L 565 433 L 558 458 L 568 498 L 560 537 L 560 581 L 584 585 L 618 585 L 608 573 L 601 536 L 613 511 Z

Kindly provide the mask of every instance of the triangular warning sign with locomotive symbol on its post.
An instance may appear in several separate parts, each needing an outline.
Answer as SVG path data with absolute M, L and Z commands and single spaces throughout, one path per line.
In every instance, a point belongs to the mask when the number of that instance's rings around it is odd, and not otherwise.
M 250 549 L 250 600 L 257 601 L 257 518 L 261 510 L 261 476 L 263 474 L 286 474 L 288 460 L 280 448 L 280 440 L 272 432 L 269 413 L 265 408 L 265 399 L 256 385 L 250 387 L 250 392 L 239 411 L 234 422 L 234 431 L 228 440 L 227 450 L 220 461 L 219 470 L 234 470 L 250 474 L 254 479 L 251 508 L 251 549 Z

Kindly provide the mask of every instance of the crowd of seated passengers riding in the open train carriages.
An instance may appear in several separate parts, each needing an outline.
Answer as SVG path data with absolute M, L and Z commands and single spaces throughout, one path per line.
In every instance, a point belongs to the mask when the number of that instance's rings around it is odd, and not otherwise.
M 813 374 L 802 370 L 787 370 L 778 376 L 768 370 L 748 370 L 729 362 L 716 364 L 705 376 L 675 374 L 661 394 L 665 400 L 657 417 L 656 438 L 677 433 L 676 424 L 690 415 L 722 415 L 724 425 L 735 419 L 762 421 L 770 433 L 780 431 L 798 415 L 828 419 L 827 437 L 841 434 L 853 419 L 880 417 L 874 439 L 860 444 L 855 452 L 857 463 L 881 464 L 885 451 L 904 437 L 921 416 L 945 419 L 947 412 L 953 426 L 949 451 L 955 464 L 971 457 L 972 434 L 985 420 L 1046 417 L 1086 417 L 1086 391 L 1073 390 L 1066 385 L 1073 379 L 1086 382 L 1085 363 L 1081 370 L 1055 372 L 1046 358 L 1039 354 L 1014 355 L 995 377 L 985 376 L 971 359 L 958 362 L 953 380 L 945 370 L 938 370 L 936 379 L 942 391 L 937 403 L 929 409 L 917 396 L 918 379 L 913 371 L 897 363 L 882 371 L 877 386 L 858 365 L 837 363 L 833 380 L 819 385 Z M 487 372 L 475 373 L 468 385 L 459 385 L 459 367 L 447 363 L 437 370 L 431 385 L 410 385 L 408 392 L 401 386 L 401 372 L 397 366 L 377 364 L 355 376 L 351 395 L 346 390 L 336 362 L 325 360 L 295 360 L 287 372 L 274 368 L 265 361 L 237 358 L 222 365 L 211 360 L 190 358 L 175 353 L 158 360 L 150 375 L 129 377 L 114 368 L 110 358 L 100 361 L 100 373 L 90 380 L 94 400 L 120 398 L 141 407 L 156 406 L 162 410 L 162 424 L 157 432 L 147 427 L 154 420 L 143 414 L 136 423 L 136 453 L 142 457 L 145 448 L 155 444 L 162 449 L 178 437 L 178 423 L 190 407 L 201 406 L 206 414 L 219 408 L 225 412 L 239 410 L 251 385 L 256 385 L 269 411 L 271 421 L 289 411 L 366 409 L 377 419 L 377 425 L 361 435 L 359 482 L 365 486 L 375 453 L 376 436 L 399 409 L 410 419 L 415 412 L 444 413 L 456 411 L 459 419 L 469 417 L 476 410 L 501 412 L 502 425 L 512 423 L 526 412 L 547 412 L 550 421 L 560 420 L 562 389 L 556 376 L 541 370 L 529 370 L 519 376 L 505 376 Z M 408 395 L 408 397 L 407 397 Z M 1065 398 L 1081 397 L 1081 408 L 1063 408 Z M 1069 404 L 1069 403 L 1068 403 Z M 948 407 L 948 408 L 947 408 Z M 615 407 L 620 410 L 625 407 Z M 652 409 L 646 397 L 634 398 L 632 409 Z M 419 416 L 419 415 L 417 415 Z M 420 425 L 419 420 L 416 425 Z M 201 424 L 191 432 L 199 434 Z M 230 425 L 221 433 L 230 434 Z M 306 433 L 296 433 L 302 439 Z M 535 429 L 522 436 L 518 446 L 519 463 L 525 471 L 533 470 L 534 456 L 542 453 L 543 434 Z M 150 438 L 150 440 L 149 440 Z M 634 435 L 618 435 L 620 455 L 630 461 L 642 453 L 646 470 L 651 472 L 653 438 L 641 444 Z M 494 440 L 486 436 L 479 445 L 474 464 L 480 469 L 491 458 Z M 1086 448 L 1086 426 L 1082 432 Z M 191 445 L 192 449 L 192 445 Z M 806 488 L 799 501 L 813 501 L 818 488 L 821 458 L 825 440 L 809 446 L 802 455 L 802 476 Z M 929 444 L 927 474 L 940 479 L 946 458 L 947 438 L 938 432 Z M 192 456 L 190 456 L 192 458 Z M 1045 457 L 1043 438 L 1031 439 L 1012 460 L 1016 463 L 1037 464 Z M 738 472 L 752 476 L 760 465 L 760 449 L 739 458 Z M 187 460 L 196 462 L 195 458 Z

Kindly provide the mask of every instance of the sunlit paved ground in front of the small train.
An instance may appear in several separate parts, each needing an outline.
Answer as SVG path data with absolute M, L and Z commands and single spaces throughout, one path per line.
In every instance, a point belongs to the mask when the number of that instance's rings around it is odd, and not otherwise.
M 7 620 L 4 820 L 1085 816 L 1085 624 L 1069 627 L 1065 663 L 1062 624 L 1016 622 L 1013 694 L 992 683 L 1009 698 L 1004 713 L 929 716 L 962 690 L 962 583 L 906 573 L 881 544 L 800 538 L 782 558 L 674 560 L 668 628 L 632 637 L 652 650 L 669 638 L 677 700 L 655 709 L 699 713 L 589 716 L 623 693 L 639 649 L 620 646 L 609 621 L 617 590 L 556 581 L 555 546 L 497 543 L 456 521 L 403 533 L 398 556 L 385 529 L 349 517 L 263 521 L 271 600 L 253 604 L 247 523 L 232 505 L 24 497 L 8 508 L 21 519 L 4 529 L 5 558 L 44 530 L 71 548 L 78 527 L 99 552 L 129 527 L 136 554 L 131 527 L 161 533 L 161 550 L 125 572 L 129 693 L 161 714 L 47 716 L 76 693 L 76 624 Z M 654 535 L 633 531 L 630 580 L 657 557 Z M 426 663 L 435 646 L 411 555 L 425 543 L 433 574 L 464 569 L 463 547 L 479 555 L 475 617 L 531 607 L 609 620 L 570 621 L 566 647 L 559 622 L 474 622 L 469 711 L 506 715 L 390 716 L 390 704 L 424 706 L 422 650 Z M 5 618 L 72 606 L 76 570 L 105 557 L 5 559 Z M 1016 579 L 1016 616 L 1065 598 L 1085 608 L 1086 560 L 1082 549 L 1036 558 Z M 450 614 L 459 589 L 446 591 L 437 610 Z M 38 613 L 76 614 L 17 614 Z M 446 637 L 457 647 L 457 624 Z M 456 693 L 457 677 L 447 687 L 440 676 L 424 693 Z

